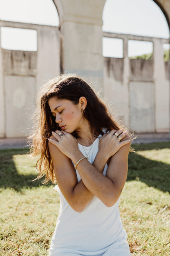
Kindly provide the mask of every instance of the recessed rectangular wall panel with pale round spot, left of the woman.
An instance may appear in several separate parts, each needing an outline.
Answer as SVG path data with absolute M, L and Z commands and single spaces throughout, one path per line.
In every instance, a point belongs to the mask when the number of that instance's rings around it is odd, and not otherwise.
M 32 127 L 31 115 L 36 104 L 34 76 L 5 75 L 6 137 L 25 137 Z

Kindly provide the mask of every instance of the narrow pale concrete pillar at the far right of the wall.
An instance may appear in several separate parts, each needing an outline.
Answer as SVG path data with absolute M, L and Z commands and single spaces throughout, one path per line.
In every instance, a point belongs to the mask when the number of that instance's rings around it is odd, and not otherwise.
M 154 38 L 155 131 L 169 130 L 169 81 L 166 80 L 163 60 L 163 39 Z

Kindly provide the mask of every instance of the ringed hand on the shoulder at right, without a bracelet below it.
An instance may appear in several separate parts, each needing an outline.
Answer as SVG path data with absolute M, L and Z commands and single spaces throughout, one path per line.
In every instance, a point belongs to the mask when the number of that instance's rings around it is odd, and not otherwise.
M 108 160 L 112 155 L 116 154 L 122 146 L 130 143 L 130 139 L 121 141 L 126 135 L 128 135 L 128 132 L 123 129 L 111 130 L 99 139 L 98 151 L 103 152 Z M 120 140 L 118 137 L 120 137 Z

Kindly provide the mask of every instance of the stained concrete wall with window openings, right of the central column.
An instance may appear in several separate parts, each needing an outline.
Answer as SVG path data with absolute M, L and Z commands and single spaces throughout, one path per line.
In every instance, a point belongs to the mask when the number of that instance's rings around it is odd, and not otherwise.
M 123 58 L 104 58 L 104 94 L 113 113 L 136 133 L 169 132 L 169 63 L 163 60 L 168 39 L 108 32 L 104 36 L 123 39 Z M 153 59 L 129 59 L 128 40 L 152 41 Z

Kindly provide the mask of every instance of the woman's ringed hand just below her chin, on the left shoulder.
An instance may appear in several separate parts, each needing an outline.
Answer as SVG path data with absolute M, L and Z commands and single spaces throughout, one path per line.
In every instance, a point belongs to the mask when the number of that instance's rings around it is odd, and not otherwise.
M 52 139 L 53 136 L 56 140 Z M 55 132 L 52 132 L 52 136 L 48 140 L 51 144 L 57 146 L 58 149 L 70 159 L 72 159 L 72 156 L 79 151 L 77 139 L 74 138 L 72 134 L 65 131 L 56 130 Z

